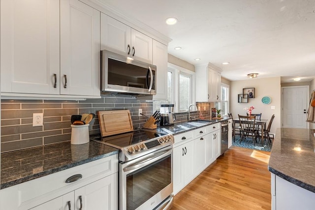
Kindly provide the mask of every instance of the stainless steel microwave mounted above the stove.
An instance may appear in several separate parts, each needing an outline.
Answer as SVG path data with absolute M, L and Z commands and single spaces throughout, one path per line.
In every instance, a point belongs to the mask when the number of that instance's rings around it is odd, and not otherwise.
M 104 93 L 155 95 L 157 66 L 101 51 L 101 90 Z

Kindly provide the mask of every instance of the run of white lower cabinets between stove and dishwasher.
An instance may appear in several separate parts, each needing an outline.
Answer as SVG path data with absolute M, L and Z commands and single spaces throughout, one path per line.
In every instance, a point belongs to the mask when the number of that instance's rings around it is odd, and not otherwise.
M 216 123 L 174 136 L 174 194 L 177 194 L 220 156 L 220 132 L 220 123 Z

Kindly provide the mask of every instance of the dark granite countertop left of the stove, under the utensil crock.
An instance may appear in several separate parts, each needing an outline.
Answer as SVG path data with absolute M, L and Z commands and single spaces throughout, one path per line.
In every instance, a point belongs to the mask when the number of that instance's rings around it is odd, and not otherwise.
M 0 189 L 63 171 L 118 153 L 98 142 L 71 145 L 70 141 L 1 153 Z

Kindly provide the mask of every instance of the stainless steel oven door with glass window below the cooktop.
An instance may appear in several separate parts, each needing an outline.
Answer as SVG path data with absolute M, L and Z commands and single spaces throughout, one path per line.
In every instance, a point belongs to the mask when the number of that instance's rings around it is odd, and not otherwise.
M 172 194 L 172 155 L 169 146 L 120 163 L 120 210 L 153 210 Z

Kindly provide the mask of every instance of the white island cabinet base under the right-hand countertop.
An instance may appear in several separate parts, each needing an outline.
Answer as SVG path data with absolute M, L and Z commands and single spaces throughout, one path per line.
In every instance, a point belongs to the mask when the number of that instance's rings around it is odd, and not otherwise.
M 315 193 L 271 173 L 272 210 L 314 210 Z

